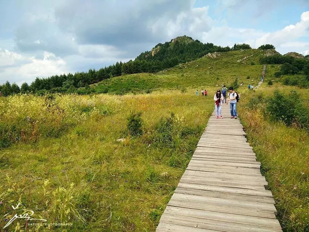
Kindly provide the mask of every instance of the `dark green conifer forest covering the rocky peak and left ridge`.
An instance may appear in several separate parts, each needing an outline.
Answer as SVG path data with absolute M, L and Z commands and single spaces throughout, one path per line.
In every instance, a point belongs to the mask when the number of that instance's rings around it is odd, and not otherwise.
M 248 44 L 235 44 L 233 47 L 216 46 L 213 43 L 201 43 L 191 37 L 184 36 L 186 40 L 165 42 L 157 44 L 152 51 L 141 53 L 134 61 L 116 62 L 116 64 L 99 70 L 89 69 L 88 72 L 76 72 L 74 74 L 53 75 L 47 78 L 36 79 L 28 85 L 24 82 L 21 87 L 8 81 L 0 85 L 2 96 L 15 93 L 33 92 L 42 95 L 46 92 L 65 92 L 87 94 L 92 91 L 89 85 L 115 76 L 149 72 L 155 73 L 177 64 L 193 61 L 207 53 L 226 52 L 240 49 L 251 49 Z M 188 41 L 189 39 L 189 41 Z M 153 54 L 153 51 L 154 54 Z

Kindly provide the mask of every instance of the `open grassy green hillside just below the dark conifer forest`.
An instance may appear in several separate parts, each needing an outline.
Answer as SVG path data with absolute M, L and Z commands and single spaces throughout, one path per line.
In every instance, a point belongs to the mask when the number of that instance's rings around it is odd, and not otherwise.
M 214 53 L 213 53 L 214 54 Z M 179 64 L 155 74 L 140 73 L 106 79 L 91 88 L 98 93 L 125 94 L 150 92 L 158 88 L 204 88 L 230 84 L 236 77 L 244 85 L 260 80 L 262 65 L 259 49 L 238 50 L 205 55 L 197 60 Z M 253 81 L 252 81 L 253 79 Z

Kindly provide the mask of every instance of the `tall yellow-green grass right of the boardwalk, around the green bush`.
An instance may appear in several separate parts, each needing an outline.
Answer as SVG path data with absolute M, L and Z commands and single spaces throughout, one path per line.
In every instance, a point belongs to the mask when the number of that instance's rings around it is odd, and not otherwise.
M 277 85 L 245 93 L 239 114 L 248 140 L 262 163 L 262 173 L 276 201 L 277 217 L 283 230 L 309 231 L 309 134 L 297 124 L 265 117 L 267 103 L 261 99 L 276 95 L 276 88 L 286 94 L 296 90 L 308 109 L 306 90 Z M 270 102 L 281 104 L 272 99 Z

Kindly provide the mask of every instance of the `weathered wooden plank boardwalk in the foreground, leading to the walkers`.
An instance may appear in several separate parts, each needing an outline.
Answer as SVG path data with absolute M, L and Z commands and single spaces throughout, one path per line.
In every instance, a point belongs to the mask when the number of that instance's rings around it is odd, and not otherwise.
M 243 126 L 213 114 L 159 221 L 162 231 L 282 231 Z

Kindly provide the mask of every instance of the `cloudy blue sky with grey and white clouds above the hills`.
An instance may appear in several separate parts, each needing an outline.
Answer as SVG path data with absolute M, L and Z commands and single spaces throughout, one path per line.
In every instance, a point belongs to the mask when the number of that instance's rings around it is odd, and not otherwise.
M 0 84 L 99 69 L 187 35 L 309 54 L 308 0 L 0 0 Z

